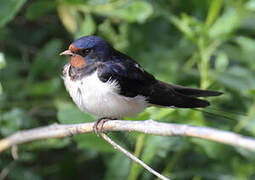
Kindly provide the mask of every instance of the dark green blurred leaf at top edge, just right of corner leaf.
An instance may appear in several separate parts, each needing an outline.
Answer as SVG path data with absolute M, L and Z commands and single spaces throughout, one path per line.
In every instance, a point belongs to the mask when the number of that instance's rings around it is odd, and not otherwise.
M 33 2 L 26 11 L 26 17 L 29 20 L 35 20 L 56 8 L 56 2 L 51 0 L 40 0 Z

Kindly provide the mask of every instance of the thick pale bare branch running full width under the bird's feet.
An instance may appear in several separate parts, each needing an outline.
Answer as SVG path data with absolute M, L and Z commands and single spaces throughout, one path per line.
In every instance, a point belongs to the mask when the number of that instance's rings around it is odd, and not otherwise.
M 47 138 L 64 138 L 76 134 L 93 132 L 94 123 L 59 125 L 17 132 L 0 140 L 0 152 L 25 142 Z M 255 151 L 255 139 L 237 133 L 207 127 L 189 126 L 173 123 L 147 121 L 109 120 L 104 123 L 103 131 L 137 131 L 161 136 L 190 136 L 243 147 Z

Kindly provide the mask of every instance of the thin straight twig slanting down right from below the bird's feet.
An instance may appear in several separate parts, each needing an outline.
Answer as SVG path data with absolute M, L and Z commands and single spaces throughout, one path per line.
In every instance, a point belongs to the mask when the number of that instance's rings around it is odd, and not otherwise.
M 137 157 L 135 157 L 133 154 L 131 154 L 130 152 L 128 152 L 126 149 L 124 149 L 123 147 L 121 147 L 120 145 L 118 145 L 117 143 L 115 143 L 110 137 L 108 137 L 106 134 L 102 133 L 101 134 L 102 137 L 109 142 L 111 145 L 113 145 L 113 147 L 115 149 L 120 150 L 121 152 L 123 152 L 127 157 L 129 157 L 130 159 L 132 159 L 133 161 L 135 161 L 136 163 L 140 164 L 141 166 L 143 166 L 145 169 L 147 169 L 150 173 L 154 174 L 155 176 L 157 176 L 159 179 L 162 180 L 170 180 L 168 178 L 166 178 L 165 176 L 161 175 L 160 173 L 158 173 L 157 171 L 155 171 L 154 169 L 152 169 L 150 166 L 148 166 L 147 164 L 145 164 L 143 161 L 141 161 L 140 159 L 138 159 Z

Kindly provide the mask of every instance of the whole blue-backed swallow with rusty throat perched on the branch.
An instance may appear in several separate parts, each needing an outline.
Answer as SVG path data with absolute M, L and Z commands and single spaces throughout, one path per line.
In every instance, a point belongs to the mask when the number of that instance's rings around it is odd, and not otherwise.
M 60 55 L 69 57 L 62 71 L 66 90 L 81 111 L 99 118 L 96 134 L 106 119 L 132 117 L 149 106 L 205 108 L 209 101 L 199 97 L 223 94 L 160 81 L 95 35 L 75 40 Z

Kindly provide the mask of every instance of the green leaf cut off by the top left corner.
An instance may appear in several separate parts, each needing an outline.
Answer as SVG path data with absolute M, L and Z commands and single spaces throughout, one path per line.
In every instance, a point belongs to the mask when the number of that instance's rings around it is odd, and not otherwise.
M 3 27 L 6 23 L 11 21 L 25 2 L 26 0 L 1 1 L 0 27 Z

